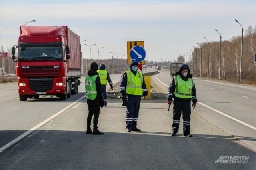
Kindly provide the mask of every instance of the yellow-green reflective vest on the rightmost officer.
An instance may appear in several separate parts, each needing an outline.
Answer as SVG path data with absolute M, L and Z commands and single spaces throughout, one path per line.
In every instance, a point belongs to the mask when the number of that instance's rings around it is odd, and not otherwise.
M 175 97 L 190 99 L 192 98 L 192 87 L 194 87 L 194 81 L 192 78 L 188 78 L 188 81 L 182 80 L 181 76 L 174 76 L 175 81 Z

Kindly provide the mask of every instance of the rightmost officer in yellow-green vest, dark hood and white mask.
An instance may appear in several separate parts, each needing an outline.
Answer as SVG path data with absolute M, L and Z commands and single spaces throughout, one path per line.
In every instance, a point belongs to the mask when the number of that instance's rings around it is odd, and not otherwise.
M 172 104 L 173 100 L 173 117 L 172 117 L 172 136 L 175 136 L 179 130 L 180 116 L 183 117 L 183 134 L 186 137 L 192 137 L 190 134 L 190 114 L 191 100 L 193 108 L 196 107 L 196 86 L 190 74 L 188 65 L 182 64 L 179 72 L 172 79 L 172 83 L 168 88 L 168 104 Z

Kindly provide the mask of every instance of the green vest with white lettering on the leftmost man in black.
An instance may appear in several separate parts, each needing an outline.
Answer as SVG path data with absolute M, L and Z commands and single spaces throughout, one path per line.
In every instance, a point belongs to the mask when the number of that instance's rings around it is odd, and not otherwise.
M 85 78 L 86 98 L 89 100 L 94 100 L 97 97 L 96 82 L 95 82 L 97 77 L 98 75 L 86 76 Z

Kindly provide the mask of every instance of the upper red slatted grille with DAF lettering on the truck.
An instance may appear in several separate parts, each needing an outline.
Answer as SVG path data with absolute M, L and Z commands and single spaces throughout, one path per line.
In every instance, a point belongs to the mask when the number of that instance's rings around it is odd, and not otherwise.
M 59 66 L 25 66 L 21 67 L 23 77 L 58 77 Z

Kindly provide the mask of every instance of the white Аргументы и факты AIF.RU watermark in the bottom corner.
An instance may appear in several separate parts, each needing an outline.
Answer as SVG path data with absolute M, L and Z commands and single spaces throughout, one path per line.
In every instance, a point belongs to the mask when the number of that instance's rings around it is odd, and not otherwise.
M 248 163 L 249 156 L 220 156 L 215 164 Z

